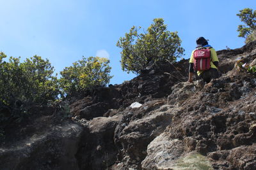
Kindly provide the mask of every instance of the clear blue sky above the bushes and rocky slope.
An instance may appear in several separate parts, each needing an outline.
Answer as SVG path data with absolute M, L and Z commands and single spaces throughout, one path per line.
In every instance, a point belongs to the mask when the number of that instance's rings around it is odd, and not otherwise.
M 116 42 L 132 25 L 145 29 L 164 18 L 178 31 L 189 58 L 195 39 L 204 36 L 216 50 L 239 48 L 236 16 L 243 8 L 256 10 L 255 0 L 0 0 L 0 50 L 22 59 L 40 55 L 59 73 L 85 57 L 108 57 L 111 83 L 131 80 L 122 71 Z

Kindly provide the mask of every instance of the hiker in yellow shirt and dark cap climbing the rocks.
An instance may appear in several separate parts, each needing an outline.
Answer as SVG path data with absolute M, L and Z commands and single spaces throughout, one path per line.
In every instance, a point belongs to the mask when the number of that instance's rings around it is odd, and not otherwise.
M 196 39 L 196 49 L 191 53 L 189 60 L 188 81 L 193 83 L 194 71 L 205 83 L 209 83 L 212 78 L 218 78 L 218 64 L 217 53 L 211 45 L 208 45 L 207 40 L 204 37 Z

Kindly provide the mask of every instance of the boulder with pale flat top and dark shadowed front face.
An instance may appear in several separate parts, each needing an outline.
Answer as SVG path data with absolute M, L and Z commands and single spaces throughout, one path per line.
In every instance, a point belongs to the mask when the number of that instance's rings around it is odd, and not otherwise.
M 79 169 L 107 169 L 115 163 L 118 149 L 114 132 L 121 118 L 122 115 L 115 115 L 79 121 L 86 128 L 76 153 Z

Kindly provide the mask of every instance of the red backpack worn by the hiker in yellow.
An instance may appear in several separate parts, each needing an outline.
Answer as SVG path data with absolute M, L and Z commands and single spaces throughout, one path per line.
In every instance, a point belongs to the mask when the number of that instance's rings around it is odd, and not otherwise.
M 211 50 L 210 48 L 199 48 L 194 52 L 194 69 L 195 71 L 205 71 L 211 67 Z

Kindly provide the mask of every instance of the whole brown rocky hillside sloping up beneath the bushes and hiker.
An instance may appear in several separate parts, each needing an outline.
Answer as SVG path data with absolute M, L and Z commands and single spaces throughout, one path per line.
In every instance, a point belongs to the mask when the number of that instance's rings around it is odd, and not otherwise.
M 6 129 L 0 169 L 256 169 L 256 41 L 218 51 L 221 77 L 157 64 L 68 108 L 38 106 Z

